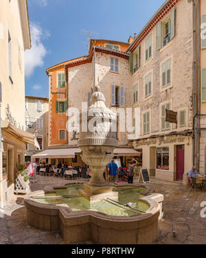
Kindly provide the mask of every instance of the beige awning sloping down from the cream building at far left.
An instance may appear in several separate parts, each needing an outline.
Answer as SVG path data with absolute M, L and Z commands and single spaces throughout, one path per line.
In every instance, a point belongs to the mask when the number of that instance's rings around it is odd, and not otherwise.
M 38 141 L 34 134 L 16 128 L 15 126 L 12 126 L 12 124 L 10 124 L 9 121 L 5 120 L 1 121 L 1 128 L 6 132 L 9 132 L 10 134 L 14 135 L 14 137 L 18 138 L 20 141 L 23 141 L 24 143 L 30 145 L 34 145 L 36 148 L 40 150 Z

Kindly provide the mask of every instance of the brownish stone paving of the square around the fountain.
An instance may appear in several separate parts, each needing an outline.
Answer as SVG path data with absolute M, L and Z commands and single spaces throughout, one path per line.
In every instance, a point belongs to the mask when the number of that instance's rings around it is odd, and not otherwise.
M 67 183 L 64 178 L 38 176 L 32 191 Z M 85 181 L 84 181 L 85 182 Z M 151 179 L 155 192 L 164 195 L 163 220 L 159 222 L 159 238 L 155 244 L 206 244 L 206 218 L 201 218 L 201 202 L 206 191 L 191 191 L 181 183 Z M 174 233 L 173 233 L 174 232 Z M 16 196 L 0 216 L 0 244 L 64 244 L 60 232 L 41 231 L 26 222 L 23 196 Z M 76 244 L 92 244 L 83 242 Z

